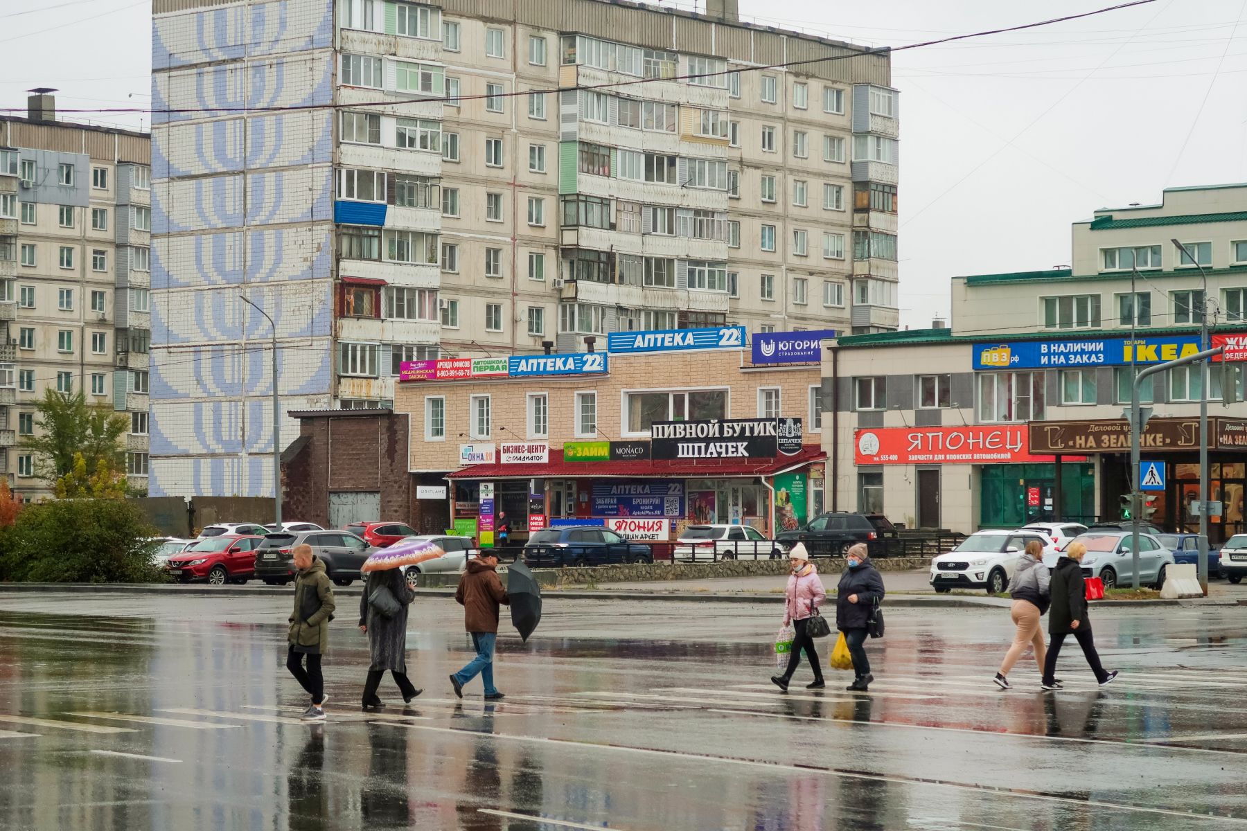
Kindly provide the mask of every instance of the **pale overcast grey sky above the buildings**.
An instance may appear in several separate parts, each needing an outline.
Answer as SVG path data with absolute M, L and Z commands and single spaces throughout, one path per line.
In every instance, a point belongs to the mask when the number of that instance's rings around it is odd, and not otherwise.
M 1107 5 L 741 0 L 741 12 L 895 46 Z M 146 106 L 150 7 L 150 0 L 0 2 L 0 106 L 24 106 L 34 86 L 59 87 L 61 107 Z M 1245 9 L 1247 0 L 1156 0 L 898 52 L 903 323 L 919 328 L 946 315 L 954 274 L 1069 263 L 1070 223 L 1095 208 L 1158 202 L 1165 187 L 1247 181 Z M 137 117 L 82 117 L 140 126 Z

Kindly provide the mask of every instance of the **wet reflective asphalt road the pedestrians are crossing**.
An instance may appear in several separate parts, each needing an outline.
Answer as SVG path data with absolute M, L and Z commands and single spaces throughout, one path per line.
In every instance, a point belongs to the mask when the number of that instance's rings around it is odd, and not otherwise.
M 416 705 L 387 679 L 392 706 L 359 711 L 344 610 L 307 725 L 278 599 L 0 597 L 0 827 L 1247 827 L 1247 608 L 1097 609 L 1121 678 L 1097 689 L 1069 642 L 1047 695 L 1033 663 L 991 685 L 1006 613 L 892 609 L 869 694 L 802 667 L 783 695 L 778 601 L 551 598 L 486 705 L 446 681 L 459 608 L 420 598 Z

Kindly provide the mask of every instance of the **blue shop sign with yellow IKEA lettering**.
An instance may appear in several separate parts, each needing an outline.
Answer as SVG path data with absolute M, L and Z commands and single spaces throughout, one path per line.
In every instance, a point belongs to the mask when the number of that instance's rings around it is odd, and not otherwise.
M 1198 335 L 1102 338 L 1100 340 L 1021 340 L 974 345 L 974 369 L 1049 366 L 1127 366 L 1160 364 L 1200 351 Z

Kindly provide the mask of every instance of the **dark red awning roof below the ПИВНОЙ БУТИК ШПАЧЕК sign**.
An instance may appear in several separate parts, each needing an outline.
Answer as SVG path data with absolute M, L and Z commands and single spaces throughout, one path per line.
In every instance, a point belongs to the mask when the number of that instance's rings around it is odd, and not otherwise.
M 561 449 L 551 449 L 546 465 L 473 465 L 451 471 L 446 478 L 752 478 L 774 476 L 824 458 L 827 453 L 814 445 L 806 445 L 793 456 L 774 458 L 637 458 L 626 462 L 567 462 Z

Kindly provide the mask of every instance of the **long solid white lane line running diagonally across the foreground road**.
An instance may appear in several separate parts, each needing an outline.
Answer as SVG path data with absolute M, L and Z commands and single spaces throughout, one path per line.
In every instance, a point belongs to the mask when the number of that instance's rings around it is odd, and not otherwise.
M 635 754 L 641 756 L 658 756 L 661 759 L 682 759 L 693 762 L 717 762 L 721 765 L 734 765 L 741 767 L 761 767 L 763 770 L 799 774 L 802 776 L 809 776 L 811 774 L 823 774 L 827 776 L 835 776 L 839 779 L 852 779 L 858 781 L 893 782 L 897 785 L 908 785 L 912 787 L 938 787 L 944 790 L 969 791 L 973 794 L 978 794 L 980 796 L 990 794 L 994 796 L 1010 796 L 1014 799 L 1030 800 L 1035 802 L 1057 802 L 1061 805 L 1074 805 L 1077 807 L 1086 807 L 1086 809 L 1107 809 L 1112 811 L 1121 811 L 1124 814 L 1173 816 L 1173 817 L 1181 817 L 1183 820 L 1190 820 L 1193 816 L 1198 816 L 1200 820 L 1208 822 L 1222 822 L 1222 824 L 1247 827 L 1247 820 L 1241 820 L 1237 817 L 1193 815 L 1187 811 L 1177 811 L 1163 807 L 1142 807 L 1137 805 L 1106 802 L 1102 800 L 1076 799 L 1071 796 L 1052 796 L 1050 794 L 1034 794 L 1025 790 L 1013 790 L 1008 787 L 983 787 L 980 785 L 971 785 L 965 782 L 948 782 L 948 781 L 936 781 L 929 779 L 909 779 L 905 776 L 890 776 L 888 774 L 862 774 L 857 771 L 835 770 L 834 767 L 822 767 L 818 765 L 786 765 L 783 762 L 756 761 L 753 759 L 734 759 L 731 756 L 712 756 L 710 754 L 686 753 L 681 750 L 630 748 L 627 745 L 607 745 L 600 743 L 577 741 L 575 739 L 550 739 L 546 736 L 508 735 L 504 733 L 481 733 L 479 730 L 464 730 L 459 728 L 438 728 L 429 724 L 402 724 L 394 726 L 405 728 L 407 730 L 424 730 L 428 733 L 444 733 L 451 735 L 490 738 L 490 739 L 498 739 L 500 741 L 527 741 L 531 744 L 549 744 L 560 748 L 576 746 L 585 750 L 615 751 L 624 754 Z

